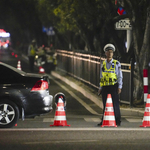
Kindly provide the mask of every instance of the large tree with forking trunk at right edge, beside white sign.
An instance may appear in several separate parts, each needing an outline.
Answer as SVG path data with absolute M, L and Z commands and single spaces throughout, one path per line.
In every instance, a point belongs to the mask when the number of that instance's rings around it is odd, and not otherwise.
M 143 99 L 143 69 L 148 69 L 150 60 L 150 2 L 148 0 L 118 0 L 123 6 L 133 26 L 135 56 L 134 97 Z

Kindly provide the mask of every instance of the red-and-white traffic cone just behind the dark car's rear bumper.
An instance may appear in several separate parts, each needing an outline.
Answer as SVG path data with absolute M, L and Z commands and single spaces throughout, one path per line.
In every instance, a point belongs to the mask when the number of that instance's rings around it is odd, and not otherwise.
M 67 125 L 66 113 L 64 110 L 64 102 L 60 97 L 59 97 L 58 103 L 57 103 L 54 124 L 50 125 L 50 126 L 70 126 L 70 125 Z

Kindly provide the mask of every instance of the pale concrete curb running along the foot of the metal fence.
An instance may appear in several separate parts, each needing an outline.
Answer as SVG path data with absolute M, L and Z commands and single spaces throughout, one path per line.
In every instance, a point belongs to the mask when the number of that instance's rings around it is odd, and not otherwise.
M 76 89 L 77 91 L 81 92 L 85 97 L 93 101 L 97 106 L 100 108 L 103 108 L 102 99 L 98 96 L 95 96 L 93 93 L 91 93 L 89 90 L 83 89 L 81 86 L 77 85 L 76 83 L 68 80 L 64 76 L 61 76 L 56 71 L 52 71 L 51 75 L 62 80 L 66 84 L 70 85 L 72 88 Z M 144 115 L 144 109 L 138 109 L 138 108 L 120 108 L 121 115 L 125 116 L 140 116 L 142 117 Z

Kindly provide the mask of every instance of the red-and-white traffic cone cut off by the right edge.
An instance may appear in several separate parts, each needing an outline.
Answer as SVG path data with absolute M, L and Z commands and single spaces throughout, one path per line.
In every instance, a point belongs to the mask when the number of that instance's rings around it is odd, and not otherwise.
M 150 94 L 147 95 L 143 124 L 140 127 L 150 127 Z

